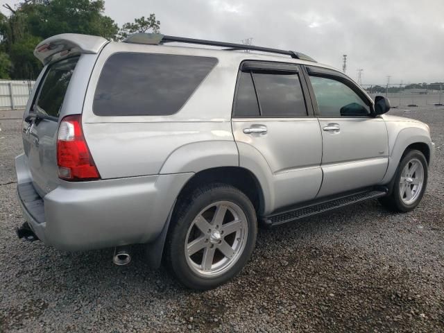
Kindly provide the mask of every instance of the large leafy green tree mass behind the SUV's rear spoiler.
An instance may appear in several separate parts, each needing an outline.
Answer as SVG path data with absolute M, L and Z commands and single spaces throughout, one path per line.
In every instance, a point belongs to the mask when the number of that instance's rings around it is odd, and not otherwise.
M 114 40 L 117 24 L 103 15 L 103 0 L 24 0 L 10 16 L 0 14 L 0 51 L 12 62 L 11 78 L 36 78 L 42 65 L 33 56 L 35 46 L 59 33 L 99 35 Z

